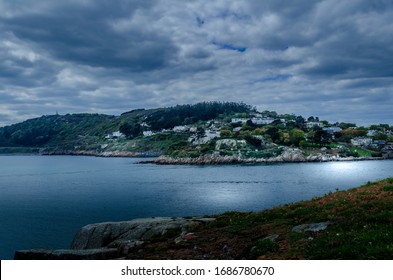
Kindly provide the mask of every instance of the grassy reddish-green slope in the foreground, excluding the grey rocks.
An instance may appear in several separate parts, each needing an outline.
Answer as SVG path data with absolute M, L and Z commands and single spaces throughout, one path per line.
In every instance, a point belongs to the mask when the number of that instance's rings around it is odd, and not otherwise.
M 192 229 L 147 243 L 133 259 L 393 259 L 393 178 L 259 213 L 228 212 Z M 318 233 L 295 233 L 304 223 L 328 221 Z M 261 241 L 278 234 L 276 241 Z

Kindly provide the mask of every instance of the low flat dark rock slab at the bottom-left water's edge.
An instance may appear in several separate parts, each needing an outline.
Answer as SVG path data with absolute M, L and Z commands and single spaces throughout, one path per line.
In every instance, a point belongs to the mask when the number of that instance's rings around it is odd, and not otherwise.
M 119 258 L 117 249 L 89 250 L 19 250 L 15 252 L 15 260 L 110 260 Z

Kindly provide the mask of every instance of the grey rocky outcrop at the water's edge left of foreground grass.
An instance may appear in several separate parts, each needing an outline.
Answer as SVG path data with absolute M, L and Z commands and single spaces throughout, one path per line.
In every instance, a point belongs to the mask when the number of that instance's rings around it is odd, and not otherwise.
M 179 231 L 181 238 L 188 239 L 191 226 L 214 221 L 214 218 L 145 218 L 123 222 L 90 224 L 82 227 L 67 250 L 19 250 L 16 260 L 104 260 L 117 259 L 128 254 L 155 236 L 170 230 Z

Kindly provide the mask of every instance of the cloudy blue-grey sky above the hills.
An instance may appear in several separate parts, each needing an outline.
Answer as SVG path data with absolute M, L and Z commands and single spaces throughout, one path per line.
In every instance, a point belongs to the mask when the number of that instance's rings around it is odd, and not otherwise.
M 393 125 L 393 1 L 0 0 L 0 126 L 202 101 Z

